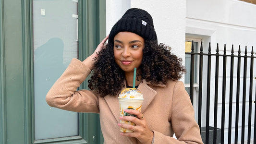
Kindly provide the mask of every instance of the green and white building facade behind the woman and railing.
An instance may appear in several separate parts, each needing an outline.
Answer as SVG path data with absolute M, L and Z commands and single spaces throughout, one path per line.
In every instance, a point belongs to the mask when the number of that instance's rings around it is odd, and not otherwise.
M 256 46 L 255 0 L 0 0 L 0 144 L 103 144 L 98 114 L 50 108 L 45 95 L 72 58 L 84 60 L 124 12 L 134 7 L 151 14 L 158 43 L 170 46 L 185 65 L 189 65 L 186 46 L 191 46 L 192 40 L 197 47 L 203 42 L 204 52 L 209 42 L 212 51 L 219 43 L 219 53 L 223 52 L 224 44 L 227 53 L 231 53 L 232 45 L 235 53 L 239 46 L 241 53 L 245 46 L 248 53 Z M 253 74 L 256 77 L 256 71 Z M 181 80 L 189 87 L 187 76 Z M 256 81 L 253 84 L 255 87 Z M 195 116 L 197 85 L 195 81 Z M 211 85 L 214 86 L 214 81 Z M 86 82 L 80 88 L 87 88 Z M 211 101 L 213 97 L 211 93 Z M 248 103 L 247 100 L 246 109 Z M 228 104 L 226 99 L 225 106 Z M 220 99 L 218 106 L 220 109 Z M 202 109 L 205 107 L 203 104 Z M 227 112 L 225 115 L 228 117 Z M 204 117 L 202 111 L 202 127 L 206 125 Z M 218 117 L 221 118 L 219 112 Z M 251 135 L 253 138 L 254 133 Z M 233 137 L 232 133 L 232 143 Z

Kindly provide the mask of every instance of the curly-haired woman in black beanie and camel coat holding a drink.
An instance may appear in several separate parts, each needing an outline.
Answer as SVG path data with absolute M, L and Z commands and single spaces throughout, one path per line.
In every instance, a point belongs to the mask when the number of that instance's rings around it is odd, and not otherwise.
M 144 96 L 141 112 L 127 109 L 137 117 L 119 117 L 117 97 L 133 85 L 134 67 L 135 85 Z M 203 144 L 190 98 L 177 81 L 184 72 L 182 60 L 169 47 L 158 45 L 150 14 L 133 8 L 91 56 L 83 62 L 71 61 L 46 100 L 56 108 L 99 113 L 105 144 Z M 91 90 L 76 91 L 90 73 Z M 136 125 L 120 124 L 120 120 Z M 120 127 L 134 132 L 120 133 Z M 178 140 L 172 138 L 173 132 Z

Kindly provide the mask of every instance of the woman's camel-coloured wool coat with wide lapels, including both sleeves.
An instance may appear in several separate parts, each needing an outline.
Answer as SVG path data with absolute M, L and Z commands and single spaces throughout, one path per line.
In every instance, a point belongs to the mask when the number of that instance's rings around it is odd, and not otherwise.
M 104 144 L 141 144 L 136 138 L 120 134 L 119 101 L 116 96 L 99 97 L 91 90 L 77 90 L 90 74 L 84 63 L 73 59 L 49 90 L 51 107 L 75 112 L 99 113 Z M 125 87 L 124 87 L 125 88 Z M 203 144 L 194 109 L 181 81 L 151 85 L 145 80 L 138 89 L 144 96 L 141 112 L 154 132 L 154 144 Z M 172 138 L 173 132 L 177 139 Z

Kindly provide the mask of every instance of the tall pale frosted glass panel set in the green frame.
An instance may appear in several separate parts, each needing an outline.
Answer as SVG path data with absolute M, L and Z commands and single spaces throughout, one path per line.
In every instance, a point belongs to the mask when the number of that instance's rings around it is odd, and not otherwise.
M 35 139 L 78 135 L 78 113 L 49 107 L 45 96 L 78 57 L 77 0 L 33 0 Z

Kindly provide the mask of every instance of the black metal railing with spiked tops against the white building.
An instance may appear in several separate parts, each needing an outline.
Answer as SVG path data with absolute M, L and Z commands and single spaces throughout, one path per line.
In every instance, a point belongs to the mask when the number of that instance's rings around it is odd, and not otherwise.
M 220 143 L 224 144 L 224 143 L 228 143 L 231 144 L 234 142 L 234 144 L 238 144 L 238 142 L 241 142 L 241 144 L 244 144 L 244 141 L 248 141 L 247 144 L 250 144 L 251 141 L 251 127 L 252 127 L 252 104 L 255 105 L 255 102 L 253 101 L 253 93 L 256 93 L 256 88 L 253 89 L 253 80 L 255 79 L 254 73 L 256 72 L 256 68 L 254 68 L 254 60 L 256 60 L 256 57 L 254 56 L 254 51 L 253 51 L 253 47 L 251 49 L 251 55 L 247 56 L 247 47 L 245 47 L 244 50 L 244 55 L 241 55 L 241 48 L 239 46 L 238 49 L 238 54 L 235 55 L 234 54 L 234 48 L 232 45 L 232 50 L 231 50 L 231 54 L 227 54 L 227 50 L 226 50 L 226 45 L 224 45 L 224 50 L 223 50 L 223 54 L 219 54 L 219 44 L 217 44 L 217 48 L 216 48 L 216 54 L 212 54 L 211 53 L 211 44 L 209 43 L 209 47 L 208 47 L 208 53 L 203 53 L 203 45 L 201 42 L 201 47 L 200 47 L 200 52 L 197 53 L 194 51 L 194 42 L 192 41 L 192 48 L 191 48 L 191 52 L 186 52 L 186 55 L 190 55 L 191 56 L 191 64 L 190 64 L 190 98 L 191 98 L 191 102 L 193 104 L 194 101 L 194 70 L 195 70 L 195 66 L 194 66 L 194 62 L 195 62 L 195 57 L 199 58 L 199 78 L 198 78 L 198 125 L 200 127 L 200 131 L 201 131 L 201 125 L 202 125 L 202 119 L 206 120 L 206 127 L 205 127 L 205 137 L 202 137 L 205 140 L 205 144 L 209 144 L 209 140 L 211 142 L 213 142 L 213 144 L 217 144 L 219 138 L 217 137 L 217 125 L 218 122 L 221 123 L 221 130 L 220 130 Z M 207 57 L 207 69 L 206 69 L 206 64 L 204 64 L 204 58 L 206 59 Z M 215 60 L 215 69 L 211 70 L 211 68 L 214 67 L 214 65 L 212 65 L 212 58 Z M 219 59 L 221 58 L 221 59 Z M 230 65 L 229 63 L 227 64 L 227 58 L 228 60 L 230 60 Z M 220 60 L 222 60 L 221 62 L 222 64 L 222 69 L 219 69 L 219 64 L 220 64 Z M 237 63 L 234 64 L 234 61 L 237 60 Z M 243 69 L 243 84 L 240 84 L 240 80 L 241 80 L 241 60 L 244 61 L 244 65 L 242 66 Z M 247 60 L 250 60 L 250 66 L 247 67 Z M 237 69 L 237 72 L 234 72 L 234 67 Z M 230 83 L 226 84 L 227 81 L 227 69 L 230 69 L 230 73 L 229 73 L 229 77 L 230 79 Z M 222 70 L 222 75 L 219 76 L 219 70 Z M 248 88 L 248 86 L 246 85 L 248 77 L 247 77 L 247 70 L 250 71 L 250 76 L 249 76 L 249 95 L 246 95 L 246 88 Z M 203 77 L 203 74 L 205 72 L 207 72 L 207 76 Z M 214 86 L 212 86 L 211 84 L 211 72 L 215 72 L 215 79 L 214 79 Z M 236 74 L 236 79 L 234 78 L 234 74 Z M 222 87 L 219 87 L 219 80 L 220 77 L 222 77 Z M 204 80 L 205 78 L 205 80 Z M 234 80 L 236 80 L 236 85 L 234 85 Z M 206 85 L 206 86 L 204 86 Z M 226 91 L 226 88 L 228 88 L 229 86 L 229 91 Z M 239 115 L 241 116 L 241 113 L 239 113 L 239 105 L 240 105 L 240 88 L 243 88 L 243 92 L 242 92 L 242 121 L 239 121 Z M 206 93 L 202 93 L 203 89 L 206 89 Z M 236 94 L 233 94 L 233 90 L 236 89 Z M 213 94 L 214 90 L 214 102 L 210 101 L 211 99 L 211 94 Z M 218 93 L 219 91 L 221 91 L 221 117 L 218 117 Z M 229 93 L 229 97 L 226 97 L 226 93 Z M 233 107 L 233 96 L 235 97 L 235 108 Z M 246 97 L 249 96 L 249 101 L 248 103 L 248 116 L 245 116 L 245 111 L 246 111 Z M 206 115 L 202 115 L 202 97 L 206 97 L 206 101 L 203 101 L 203 103 L 206 103 Z M 229 102 L 226 104 L 226 98 L 229 98 Z M 256 96 L 255 96 L 256 99 Z M 214 109 L 213 111 L 210 111 L 210 104 L 213 104 Z M 229 105 L 228 107 L 228 118 L 225 118 L 225 107 L 226 105 Z M 256 105 L 254 106 L 256 109 Z M 256 122 L 256 110 L 254 111 L 254 122 Z M 235 114 L 235 126 L 234 126 L 234 135 L 232 137 L 232 114 Z M 213 137 L 209 137 L 209 132 L 210 132 L 210 115 L 214 118 L 213 120 Z M 245 138 L 245 117 L 248 117 L 248 128 L 247 128 L 247 139 Z M 228 119 L 228 123 L 225 122 L 225 119 Z M 247 122 L 247 121 L 246 121 Z M 241 125 L 241 132 L 239 132 L 239 124 Z M 224 142 L 224 132 L 225 132 L 225 125 L 228 125 L 228 135 L 227 136 L 227 140 Z M 238 135 L 241 135 L 241 139 L 238 140 Z M 233 138 L 233 139 L 232 139 Z M 256 127 L 254 127 L 254 144 L 256 144 Z

